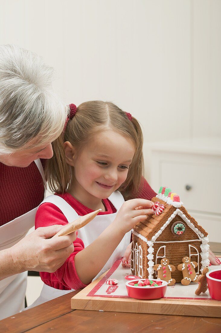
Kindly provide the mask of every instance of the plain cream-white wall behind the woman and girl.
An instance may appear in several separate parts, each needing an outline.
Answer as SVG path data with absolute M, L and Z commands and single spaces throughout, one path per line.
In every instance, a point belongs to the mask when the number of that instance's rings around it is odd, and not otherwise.
M 0 0 L 0 44 L 42 55 L 66 103 L 130 112 L 145 143 L 221 136 L 220 32 L 220 0 Z

